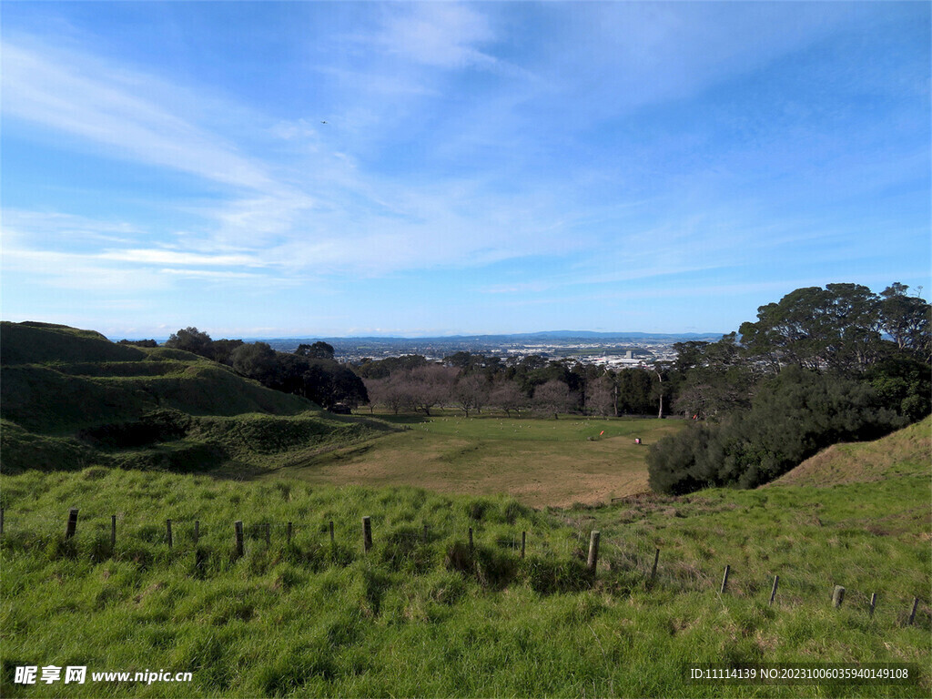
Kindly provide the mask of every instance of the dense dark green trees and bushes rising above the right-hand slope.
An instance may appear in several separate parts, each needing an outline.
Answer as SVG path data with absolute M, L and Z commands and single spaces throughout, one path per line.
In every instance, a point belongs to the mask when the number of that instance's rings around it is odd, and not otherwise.
M 678 344 L 673 404 L 695 424 L 651 447 L 651 487 L 755 487 L 932 412 L 932 308 L 908 291 L 797 289 L 736 334 Z

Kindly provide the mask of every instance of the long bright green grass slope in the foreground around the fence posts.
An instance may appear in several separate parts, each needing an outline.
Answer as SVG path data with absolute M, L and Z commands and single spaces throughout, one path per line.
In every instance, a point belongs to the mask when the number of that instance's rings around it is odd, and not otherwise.
M 0 693 L 27 695 L 9 677 L 29 662 L 195 673 L 193 687 L 97 685 L 75 696 L 928 696 L 926 669 L 920 685 L 900 688 L 720 690 L 684 674 L 702 662 L 930 665 L 929 464 L 894 460 L 898 475 L 872 483 L 643 495 L 552 514 L 501 498 L 285 479 L 103 469 L 7 478 Z M 61 541 L 71 504 L 81 508 L 74 546 Z M 119 521 L 113 557 L 110 514 Z M 369 555 L 362 514 L 373 517 Z M 230 550 L 237 518 L 250 537 L 240 560 Z M 194 519 L 209 554 L 203 569 Z M 296 526 L 291 548 L 286 521 Z M 254 527 L 263 523 L 274 525 L 269 547 Z M 417 541 L 424 524 L 426 545 Z M 593 528 L 602 547 L 590 585 L 581 568 Z M 524 561 L 511 548 L 521 530 Z M 841 610 L 829 602 L 835 584 L 848 590 Z M 873 618 L 871 592 L 880 599 Z M 922 601 L 906 627 L 913 596 Z

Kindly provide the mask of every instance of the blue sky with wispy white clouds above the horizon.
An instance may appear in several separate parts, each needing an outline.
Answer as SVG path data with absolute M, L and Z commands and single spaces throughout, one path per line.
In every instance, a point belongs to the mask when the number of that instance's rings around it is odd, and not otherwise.
M 724 333 L 801 286 L 927 297 L 930 7 L 5 3 L 3 318 Z

